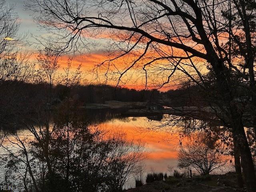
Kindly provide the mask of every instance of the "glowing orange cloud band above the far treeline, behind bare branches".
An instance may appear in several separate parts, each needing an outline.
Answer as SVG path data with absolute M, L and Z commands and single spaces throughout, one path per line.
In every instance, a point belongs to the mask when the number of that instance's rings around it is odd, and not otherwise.
M 137 50 L 131 51 L 129 54 L 117 58 L 116 60 L 109 61 L 110 58 L 114 58 L 118 54 L 122 54 L 120 51 L 115 51 L 112 55 L 107 55 L 104 51 L 92 52 L 90 54 L 76 55 L 74 56 L 73 66 L 77 67 L 81 64 L 81 70 L 86 73 L 86 80 L 93 83 L 98 82 L 107 82 L 108 84 L 116 85 L 118 82 L 119 86 L 126 88 L 134 88 L 136 90 L 142 90 L 145 88 L 146 83 L 146 72 L 143 70 L 143 67 L 147 70 L 147 87 L 148 89 L 159 88 L 164 82 L 168 80 L 168 76 L 172 73 L 175 62 L 178 60 L 167 60 L 160 59 L 156 60 L 149 64 L 152 60 L 156 58 L 170 56 L 172 54 L 179 56 L 187 56 L 184 51 L 181 51 L 176 48 L 170 49 L 168 46 L 161 46 L 161 50 L 155 50 L 151 48 L 147 54 L 145 54 L 137 62 L 138 58 L 143 54 L 143 48 L 137 48 Z M 38 54 L 34 54 L 33 58 L 36 59 Z M 68 55 L 61 56 L 60 70 L 67 66 Z M 106 61 L 106 62 L 104 62 Z M 192 58 L 192 61 L 200 64 L 202 60 L 198 58 Z M 135 63 L 136 62 L 136 63 Z M 148 65 L 149 64 L 149 65 Z M 189 60 L 184 60 L 184 68 L 192 68 L 189 63 Z M 133 66 L 132 66 L 133 65 Z M 132 66 L 130 68 L 130 66 Z M 166 70 L 162 70 L 166 68 Z M 200 70 L 204 70 L 200 67 Z M 92 73 L 93 71 L 93 73 Z M 125 73 L 124 73 L 125 72 Z M 191 71 L 190 71 L 191 72 Z M 194 71 L 196 73 L 196 71 Z M 120 78 L 121 74 L 122 78 Z M 192 73 L 192 72 L 191 72 Z M 107 74 L 107 75 L 106 75 Z M 97 79 L 96 79 L 97 78 Z M 170 89 L 170 85 L 175 86 L 175 83 L 171 79 L 169 84 L 166 84 L 165 87 L 161 88 L 162 91 Z M 173 89 L 174 87 L 172 87 Z

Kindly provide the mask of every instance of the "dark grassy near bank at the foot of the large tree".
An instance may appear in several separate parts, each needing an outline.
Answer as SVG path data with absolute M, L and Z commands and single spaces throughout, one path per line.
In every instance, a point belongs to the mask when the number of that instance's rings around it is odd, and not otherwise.
M 236 174 L 229 172 L 223 175 L 175 177 L 168 176 L 164 180 L 156 180 L 126 192 L 242 192 L 237 186 Z

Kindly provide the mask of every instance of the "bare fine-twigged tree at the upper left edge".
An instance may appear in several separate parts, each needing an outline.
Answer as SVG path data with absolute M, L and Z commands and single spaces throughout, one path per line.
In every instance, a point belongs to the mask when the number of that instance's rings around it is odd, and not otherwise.
M 20 112 L 15 104 L 15 91 L 19 91 L 16 82 L 31 80 L 33 70 L 28 62 L 30 54 L 22 50 L 25 36 L 19 34 L 19 26 L 14 4 L 0 0 L 0 122 L 9 122 Z

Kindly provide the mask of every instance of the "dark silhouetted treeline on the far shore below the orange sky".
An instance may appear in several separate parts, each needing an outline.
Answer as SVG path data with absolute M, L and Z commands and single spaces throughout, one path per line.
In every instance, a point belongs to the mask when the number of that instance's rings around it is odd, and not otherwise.
M 24 104 L 28 108 L 39 104 L 48 98 L 49 84 L 32 84 L 19 81 L 0 81 L 1 103 L 15 102 L 16 105 Z M 51 102 L 58 103 L 64 100 L 72 100 L 80 105 L 86 103 L 104 103 L 109 100 L 120 102 L 169 102 L 172 106 L 184 106 L 189 104 L 190 90 L 182 88 L 161 92 L 159 90 L 135 90 L 128 88 L 116 88 L 104 84 L 86 84 L 76 86 L 55 85 L 51 88 L 53 96 Z

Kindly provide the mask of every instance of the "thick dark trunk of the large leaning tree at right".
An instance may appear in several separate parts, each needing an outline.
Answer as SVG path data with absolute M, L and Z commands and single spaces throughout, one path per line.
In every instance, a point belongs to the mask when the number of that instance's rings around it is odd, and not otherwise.
M 226 67 L 224 63 L 220 60 L 216 60 L 215 64 L 212 64 L 212 66 L 216 73 L 216 80 L 219 87 L 218 91 L 227 107 L 226 109 L 230 125 L 232 126 L 232 134 L 237 141 L 247 192 L 256 192 L 256 176 L 254 172 L 252 153 L 249 148 L 242 121 L 243 111 L 238 108 L 237 103 L 234 101 L 230 76 L 226 74 L 228 70 L 225 70 Z

